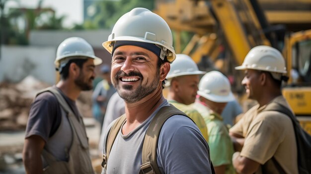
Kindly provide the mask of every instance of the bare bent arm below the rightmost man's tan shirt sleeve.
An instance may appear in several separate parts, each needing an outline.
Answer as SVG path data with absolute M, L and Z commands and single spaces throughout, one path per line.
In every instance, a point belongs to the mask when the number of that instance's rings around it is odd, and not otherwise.
M 253 174 L 258 170 L 259 163 L 240 156 L 239 152 L 235 152 L 232 157 L 233 167 L 239 174 Z

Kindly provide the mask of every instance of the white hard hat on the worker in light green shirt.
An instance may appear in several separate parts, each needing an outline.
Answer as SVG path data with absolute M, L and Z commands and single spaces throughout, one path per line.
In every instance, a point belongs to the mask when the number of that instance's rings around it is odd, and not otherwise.
M 200 80 L 198 95 L 216 103 L 234 100 L 228 78 L 219 71 L 206 73 Z

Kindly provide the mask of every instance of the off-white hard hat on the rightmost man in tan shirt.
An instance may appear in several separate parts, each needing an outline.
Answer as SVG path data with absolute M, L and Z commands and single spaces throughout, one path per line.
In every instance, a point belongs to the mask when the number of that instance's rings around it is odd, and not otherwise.
M 270 46 L 257 46 L 252 48 L 242 65 L 235 69 L 255 69 L 271 72 L 273 78 L 280 80 L 282 74 L 285 74 L 286 66 L 282 54 L 275 48 Z

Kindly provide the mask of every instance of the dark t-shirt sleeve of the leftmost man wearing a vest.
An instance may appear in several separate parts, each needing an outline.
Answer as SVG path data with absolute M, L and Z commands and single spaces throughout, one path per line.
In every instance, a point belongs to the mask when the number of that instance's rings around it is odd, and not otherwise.
M 61 121 L 60 108 L 55 96 L 44 92 L 30 106 L 26 136 L 38 135 L 45 142 L 54 133 Z

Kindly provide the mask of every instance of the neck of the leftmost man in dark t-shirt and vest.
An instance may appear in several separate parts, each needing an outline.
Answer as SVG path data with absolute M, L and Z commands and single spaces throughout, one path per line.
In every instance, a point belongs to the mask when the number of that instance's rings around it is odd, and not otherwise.
M 56 84 L 58 87 L 68 98 L 73 101 L 78 99 L 81 90 L 74 84 L 69 82 L 68 80 L 61 80 Z

